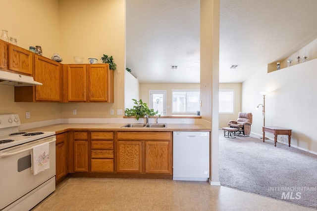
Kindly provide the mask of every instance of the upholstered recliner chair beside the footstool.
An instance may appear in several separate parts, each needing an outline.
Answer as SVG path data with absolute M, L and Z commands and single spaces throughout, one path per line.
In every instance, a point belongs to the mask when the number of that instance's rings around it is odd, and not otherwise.
M 237 128 L 238 135 L 243 134 L 244 136 L 249 136 L 251 132 L 252 125 L 252 113 L 239 112 L 237 121 L 230 120 L 228 126 Z

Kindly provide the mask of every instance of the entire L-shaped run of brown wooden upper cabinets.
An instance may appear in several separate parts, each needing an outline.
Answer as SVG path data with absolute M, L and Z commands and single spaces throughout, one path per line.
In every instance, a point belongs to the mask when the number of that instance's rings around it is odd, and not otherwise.
M 109 64 L 60 64 L 0 40 L 0 70 L 33 76 L 43 85 L 15 86 L 15 102 L 114 102 Z

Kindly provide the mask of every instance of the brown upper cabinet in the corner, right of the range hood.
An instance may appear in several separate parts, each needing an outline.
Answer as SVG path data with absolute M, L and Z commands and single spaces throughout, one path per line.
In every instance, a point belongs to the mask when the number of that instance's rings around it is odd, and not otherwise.
M 62 102 L 62 64 L 34 55 L 34 80 L 43 85 L 15 86 L 15 102 Z

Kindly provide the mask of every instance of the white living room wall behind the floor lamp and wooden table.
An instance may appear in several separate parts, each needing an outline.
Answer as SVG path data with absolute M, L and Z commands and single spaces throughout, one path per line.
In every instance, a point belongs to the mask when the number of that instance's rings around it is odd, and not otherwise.
M 253 110 L 253 133 L 262 134 L 262 110 L 254 109 L 263 103 L 259 92 L 269 91 L 265 96 L 265 126 L 290 128 L 291 145 L 317 152 L 316 67 L 317 59 L 271 73 L 265 66 L 242 84 L 242 110 Z M 278 141 L 281 137 L 288 141 L 287 136 L 279 136 Z

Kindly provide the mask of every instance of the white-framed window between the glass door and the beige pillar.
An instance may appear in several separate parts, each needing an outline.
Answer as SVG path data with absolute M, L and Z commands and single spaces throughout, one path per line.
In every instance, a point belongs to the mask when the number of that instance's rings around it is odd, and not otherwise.
M 200 111 L 200 90 L 172 90 L 172 113 L 196 114 Z

